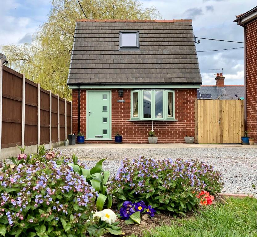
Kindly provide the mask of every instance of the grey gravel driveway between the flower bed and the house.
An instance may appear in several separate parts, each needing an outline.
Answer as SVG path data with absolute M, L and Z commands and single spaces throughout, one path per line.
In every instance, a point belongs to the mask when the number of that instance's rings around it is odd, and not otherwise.
M 183 158 L 198 159 L 211 164 L 222 174 L 225 193 L 246 193 L 257 196 L 257 149 L 256 148 L 55 148 L 71 157 L 76 153 L 89 167 L 101 158 L 104 169 L 116 174 L 120 160 L 137 158 Z M 256 187 L 256 189 L 255 189 Z

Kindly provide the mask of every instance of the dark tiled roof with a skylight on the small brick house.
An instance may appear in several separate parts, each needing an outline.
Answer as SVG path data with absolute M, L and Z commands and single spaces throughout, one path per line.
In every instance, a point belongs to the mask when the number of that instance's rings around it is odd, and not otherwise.
M 139 51 L 119 51 L 119 32 L 139 31 Z M 76 22 L 67 84 L 202 83 L 191 20 Z

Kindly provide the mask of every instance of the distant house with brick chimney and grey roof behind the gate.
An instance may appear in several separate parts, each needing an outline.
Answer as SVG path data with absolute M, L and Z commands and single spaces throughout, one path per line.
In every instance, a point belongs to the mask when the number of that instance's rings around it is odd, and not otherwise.
M 197 89 L 198 99 L 212 100 L 243 100 L 244 85 L 225 85 L 225 77 L 222 73 L 217 73 L 215 77 L 216 85 L 201 85 Z

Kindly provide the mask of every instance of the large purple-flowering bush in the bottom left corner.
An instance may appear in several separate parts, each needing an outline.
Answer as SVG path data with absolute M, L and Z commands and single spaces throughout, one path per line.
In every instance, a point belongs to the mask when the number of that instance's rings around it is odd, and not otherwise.
M 1 235 L 86 236 L 97 193 L 70 166 L 18 164 L 0 183 Z

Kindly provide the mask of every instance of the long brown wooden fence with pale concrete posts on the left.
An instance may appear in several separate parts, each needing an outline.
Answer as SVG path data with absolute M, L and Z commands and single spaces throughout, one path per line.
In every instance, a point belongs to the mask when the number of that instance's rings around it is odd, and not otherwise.
M 1 151 L 24 144 L 58 146 L 67 139 L 71 102 L 0 63 Z

